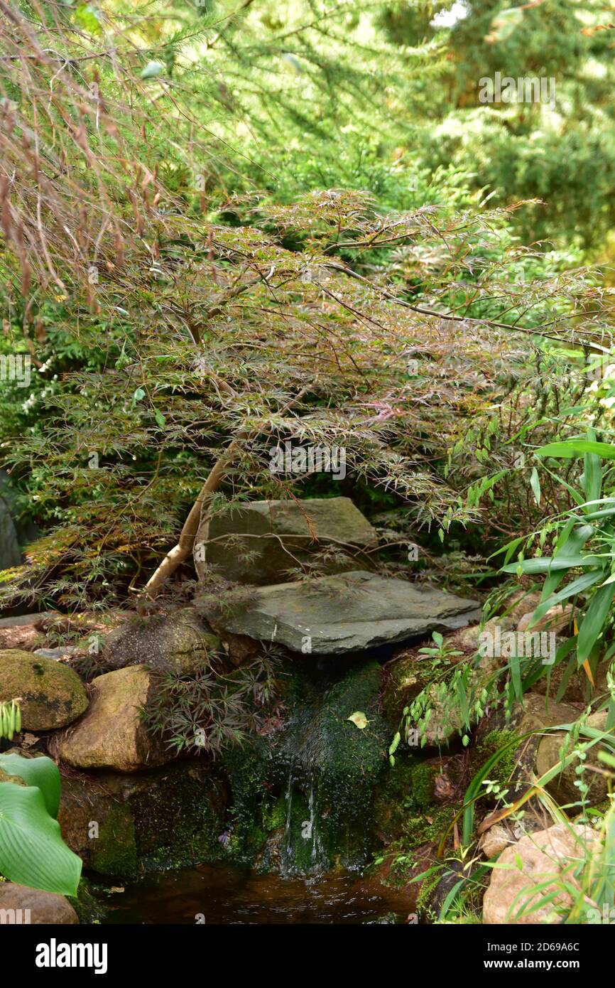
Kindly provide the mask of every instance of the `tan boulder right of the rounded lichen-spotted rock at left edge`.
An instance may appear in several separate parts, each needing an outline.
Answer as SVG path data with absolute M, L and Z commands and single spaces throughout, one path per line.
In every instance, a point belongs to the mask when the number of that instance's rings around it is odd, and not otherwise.
M 51 739 L 53 753 L 77 769 L 137 772 L 164 765 L 173 757 L 145 729 L 139 711 L 146 705 L 152 674 L 127 666 L 92 681 L 90 707 L 70 730 Z

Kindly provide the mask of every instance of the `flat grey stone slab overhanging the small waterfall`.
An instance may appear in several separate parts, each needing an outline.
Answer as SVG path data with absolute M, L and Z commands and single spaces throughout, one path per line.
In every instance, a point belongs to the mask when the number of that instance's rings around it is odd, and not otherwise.
M 320 655 L 454 630 L 481 617 L 478 601 L 363 570 L 255 588 L 230 614 L 216 603 L 202 598 L 200 609 L 225 631 Z

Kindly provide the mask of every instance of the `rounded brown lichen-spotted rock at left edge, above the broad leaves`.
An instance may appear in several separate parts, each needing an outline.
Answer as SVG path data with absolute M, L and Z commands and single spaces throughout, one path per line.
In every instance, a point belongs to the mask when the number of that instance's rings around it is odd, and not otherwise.
M 88 706 L 88 695 L 68 666 L 42 655 L 0 652 L 0 702 L 21 697 L 22 725 L 31 731 L 65 727 Z

